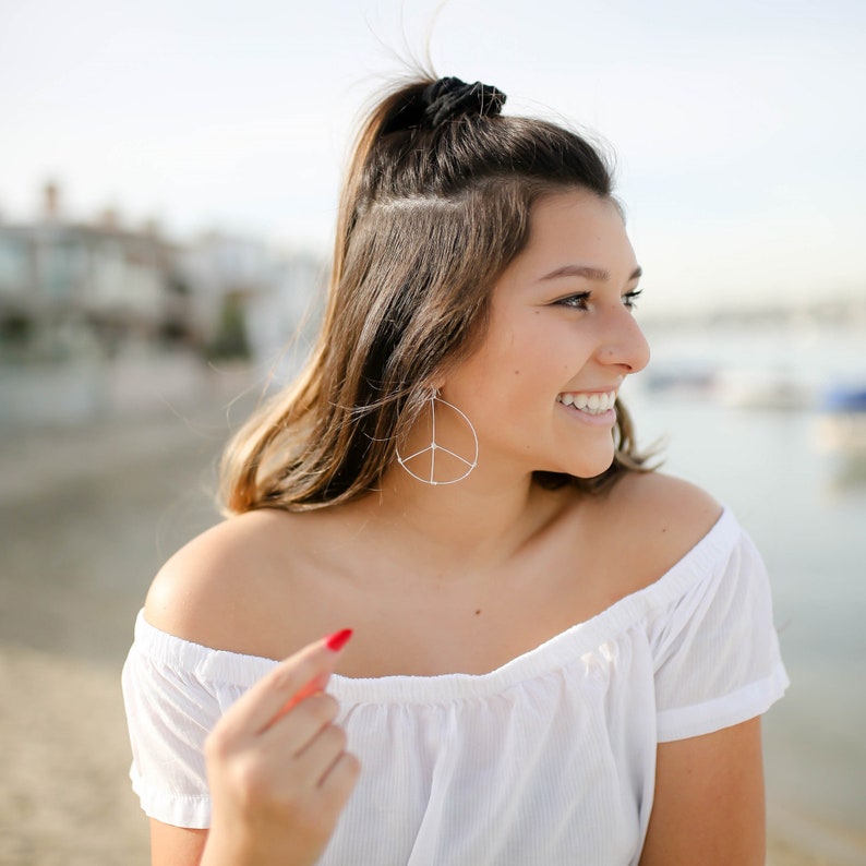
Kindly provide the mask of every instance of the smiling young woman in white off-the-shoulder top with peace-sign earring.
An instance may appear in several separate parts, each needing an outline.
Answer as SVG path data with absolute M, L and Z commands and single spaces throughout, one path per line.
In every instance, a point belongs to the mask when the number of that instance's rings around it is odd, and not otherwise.
M 153 585 L 123 683 L 155 864 L 763 863 L 761 561 L 636 453 L 608 167 L 504 100 L 373 111 L 318 345 Z

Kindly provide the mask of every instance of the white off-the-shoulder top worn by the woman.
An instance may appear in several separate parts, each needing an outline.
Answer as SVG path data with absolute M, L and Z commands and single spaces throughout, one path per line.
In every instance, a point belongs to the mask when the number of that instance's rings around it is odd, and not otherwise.
M 207 827 L 204 738 L 275 663 L 139 615 L 123 691 L 147 815 Z M 491 673 L 332 677 L 362 772 L 320 864 L 637 864 L 657 743 L 786 686 L 763 564 L 725 510 L 657 582 Z

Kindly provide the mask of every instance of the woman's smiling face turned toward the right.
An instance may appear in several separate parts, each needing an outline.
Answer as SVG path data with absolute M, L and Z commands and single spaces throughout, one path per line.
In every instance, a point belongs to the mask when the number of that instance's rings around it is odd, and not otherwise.
M 533 207 L 529 243 L 494 287 L 484 338 L 442 384 L 476 428 L 480 471 L 591 478 L 611 465 L 613 401 L 649 361 L 632 310 L 639 276 L 612 202 L 569 191 Z

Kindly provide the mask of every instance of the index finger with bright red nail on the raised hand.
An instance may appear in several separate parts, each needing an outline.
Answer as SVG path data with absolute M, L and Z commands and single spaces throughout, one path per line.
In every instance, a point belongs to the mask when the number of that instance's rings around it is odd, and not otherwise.
M 337 653 L 351 634 L 349 628 L 335 632 L 279 662 L 229 708 L 219 723 L 222 733 L 260 734 L 312 681 L 317 689 L 324 688 L 334 672 Z

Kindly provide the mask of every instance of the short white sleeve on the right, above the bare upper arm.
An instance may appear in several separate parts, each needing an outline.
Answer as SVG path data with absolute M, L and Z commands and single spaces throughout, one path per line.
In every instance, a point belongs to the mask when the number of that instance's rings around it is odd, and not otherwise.
M 730 513 L 722 519 L 651 629 L 660 743 L 760 715 L 789 685 L 763 562 Z

